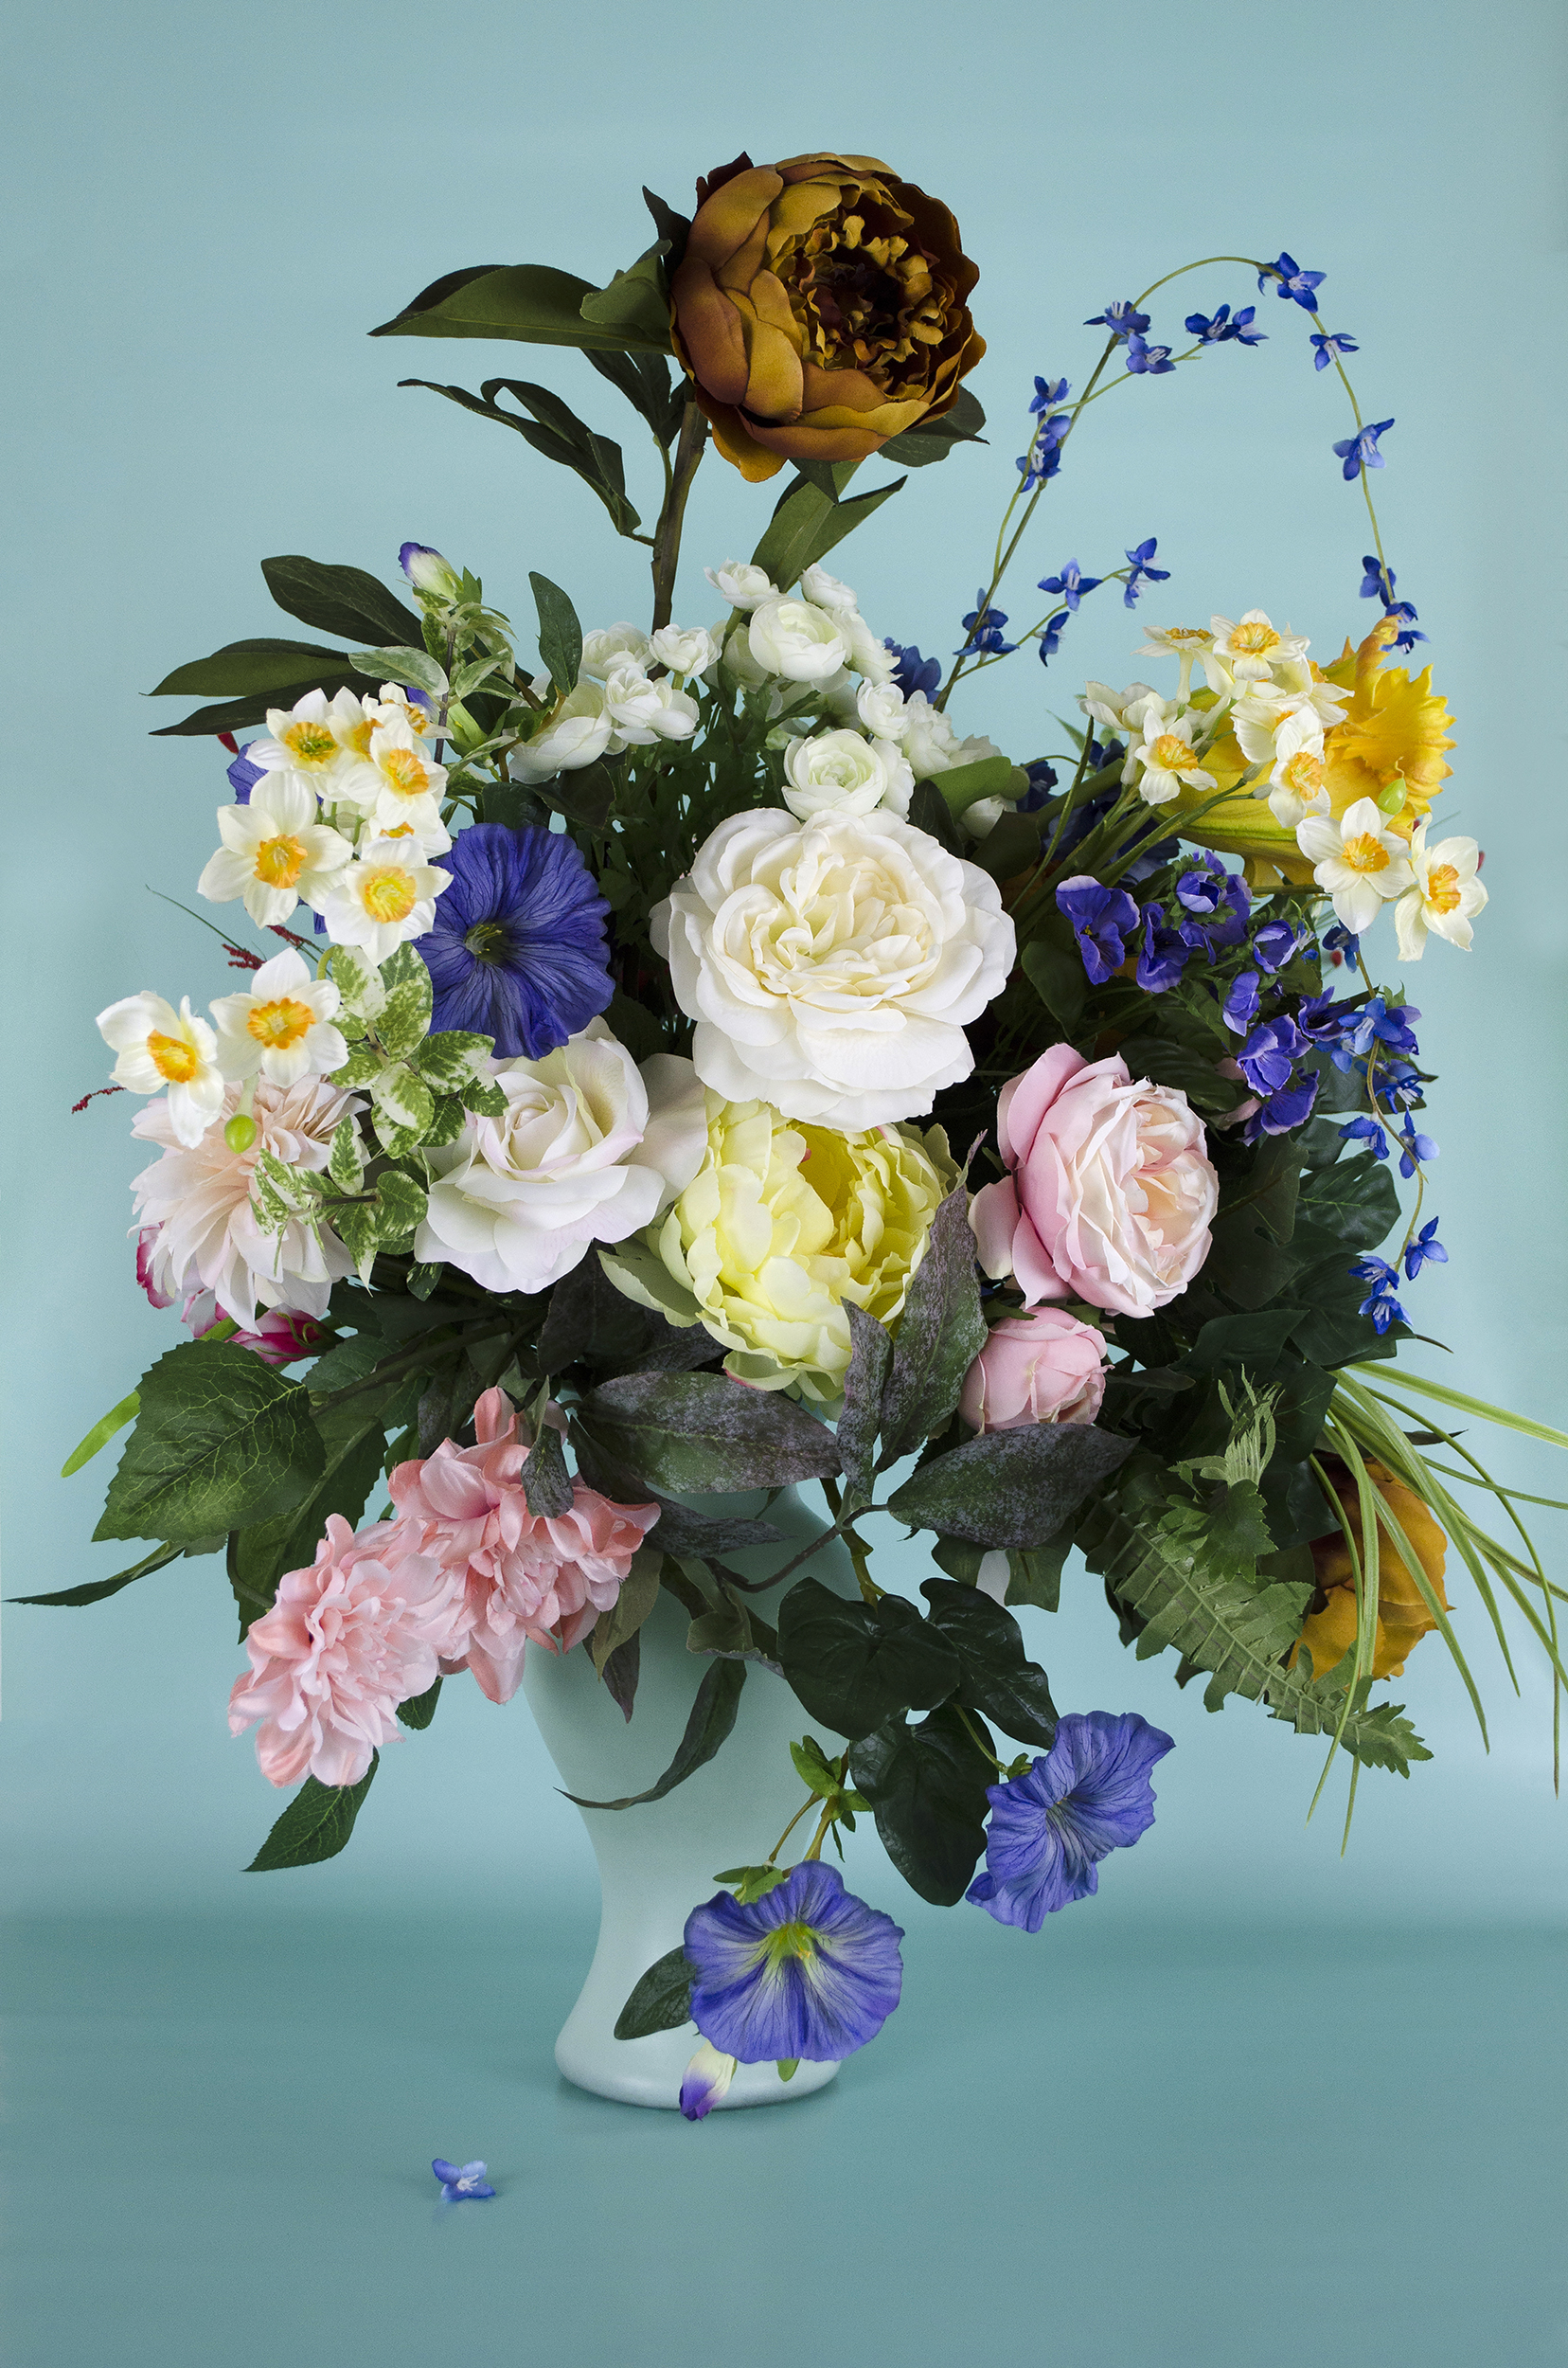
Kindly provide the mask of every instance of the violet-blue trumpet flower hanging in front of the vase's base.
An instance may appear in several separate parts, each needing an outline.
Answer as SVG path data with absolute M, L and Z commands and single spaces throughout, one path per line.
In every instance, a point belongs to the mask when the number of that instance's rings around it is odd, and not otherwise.
M 898 2006 L 902 1937 L 891 1916 L 846 1892 L 836 1868 L 801 1859 L 751 1906 L 718 1892 L 692 1909 L 692 2020 L 744 2065 L 838 2063 Z

